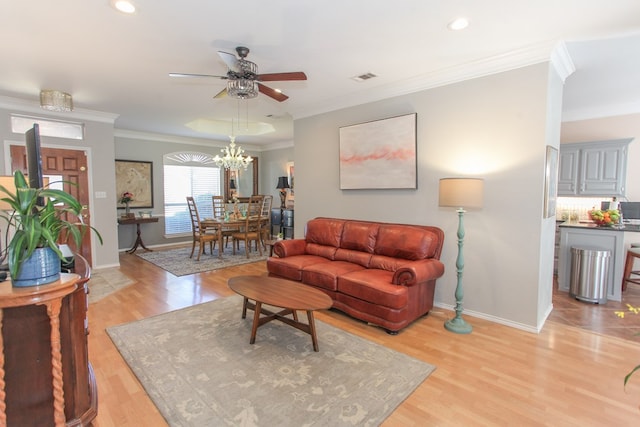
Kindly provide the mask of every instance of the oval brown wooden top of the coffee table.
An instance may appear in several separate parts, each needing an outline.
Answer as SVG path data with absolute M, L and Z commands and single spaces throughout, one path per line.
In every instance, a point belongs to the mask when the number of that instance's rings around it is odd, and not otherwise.
M 229 279 L 229 287 L 237 294 L 275 307 L 291 310 L 331 308 L 329 295 L 312 286 L 269 276 L 237 276 Z

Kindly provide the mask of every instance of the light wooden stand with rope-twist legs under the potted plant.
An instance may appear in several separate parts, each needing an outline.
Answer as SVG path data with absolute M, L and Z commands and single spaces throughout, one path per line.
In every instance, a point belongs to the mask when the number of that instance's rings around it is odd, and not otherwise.
M 0 283 L 0 329 L 3 326 L 5 309 L 23 308 L 44 305 L 49 318 L 50 346 L 51 346 L 51 374 L 53 376 L 53 424 L 56 427 L 66 425 L 65 397 L 63 391 L 62 372 L 62 344 L 60 333 L 60 309 L 62 300 L 72 294 L 78 287 L 80 276 L 77 274 L 61 274 L 60 280 L 41 286 L 14 288 L 10 280 Z M 35 329 L 37 325 L 32 325 Z M 5 353 L 12 351 L 5 348 L 5 335 L 9 331 L 0 333 L 0 426 L 7 425 L 6 386 L 5 383 Z M 33 337 L 22 337 L 28 340 Z M 36 392 L 36 390 L 34 390 Z M 32 414 L 35 418 L 35 414 Z

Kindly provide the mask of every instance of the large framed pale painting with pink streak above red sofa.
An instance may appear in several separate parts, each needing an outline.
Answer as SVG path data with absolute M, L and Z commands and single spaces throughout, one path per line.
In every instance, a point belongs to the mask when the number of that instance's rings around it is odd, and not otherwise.
M 417 113 L 340 128 L 340 189 L 417 189 Z

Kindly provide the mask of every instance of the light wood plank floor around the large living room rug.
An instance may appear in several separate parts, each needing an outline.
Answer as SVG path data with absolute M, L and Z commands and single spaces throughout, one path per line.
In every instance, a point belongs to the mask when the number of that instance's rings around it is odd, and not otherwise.
M 265 263 L 175 277 L 133 255 L 120 261 L 122 272 L 137 282 L 89 306 L 89 356 L 99 393 L 94 426 L 163 426 L 105 328 L 232 295 L 229 277 L 265 274 Z M 336 311 L 319 312 L 316 319 L 437 366 L 385 421 L 387 427 L 640 425 L 640 373 L 626 390 L 622 383 L 640 364 L 640 338 L 555 321 L 531 334 L 471 317 L 473 333 L 456 335 L 442 326 L 451 316 L 434 309 L 396 336 Z

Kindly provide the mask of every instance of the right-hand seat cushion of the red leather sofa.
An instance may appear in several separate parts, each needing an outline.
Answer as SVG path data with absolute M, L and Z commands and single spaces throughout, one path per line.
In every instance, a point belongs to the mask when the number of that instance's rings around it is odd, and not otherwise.
M 392 285 L 393 273 L 368 268 L 352 271 L 338 277 L 338 292 L 363 301 L 394 309 L 407 306 L 408 291 L 405 286 Z

